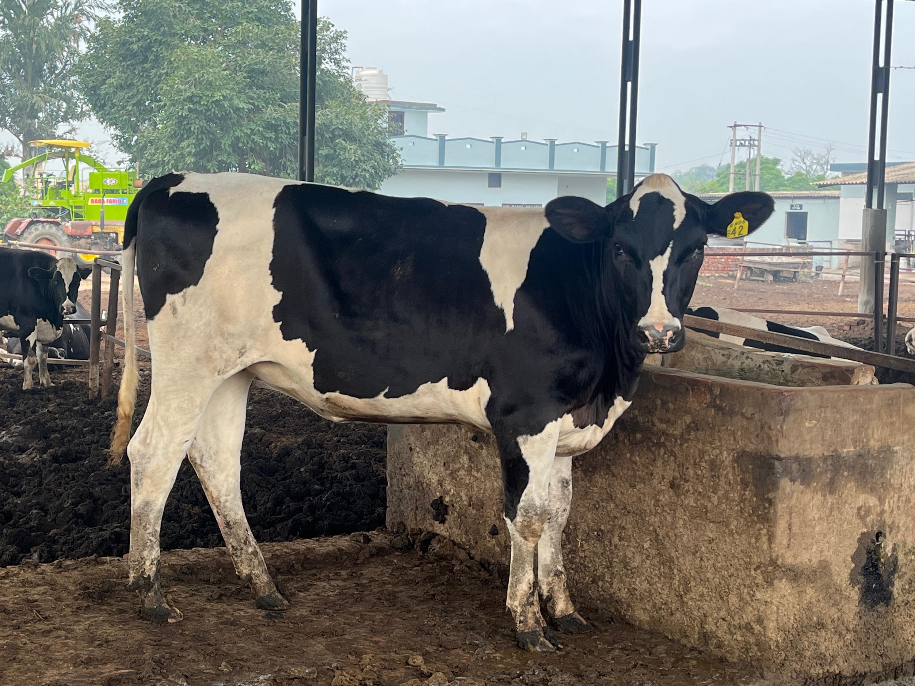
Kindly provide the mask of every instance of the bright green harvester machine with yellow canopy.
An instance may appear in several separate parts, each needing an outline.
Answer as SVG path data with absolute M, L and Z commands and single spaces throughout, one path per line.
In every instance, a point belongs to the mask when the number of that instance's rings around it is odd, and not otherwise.
M 133 169 L 109 169 L 83 151 L 85 141 L 39 140 L 30 146 L 42 149 L 38 155 L 4 172 L 8 181 L 20 169 L 39 168 L 48 160 L 63 161 L 63 175 L 27 177 L 28 217 L 10 220 L 3 241 L 76 248 L 74 259 L 90 263 L 93 250 L 118 250 L 124 241 L 127 208 L 143 187 Z M 87 171 L 88 174 L 83 174 Z M 51 251 L 53 252 L 53 251 Z M 53 252 L 62 256 L 62 252 Z

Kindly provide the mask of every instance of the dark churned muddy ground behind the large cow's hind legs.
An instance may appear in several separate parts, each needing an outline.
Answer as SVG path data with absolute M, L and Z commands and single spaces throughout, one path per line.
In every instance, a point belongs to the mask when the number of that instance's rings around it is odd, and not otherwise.
M 107 467 L 116 403 L 89 400 L 85 370 L 56 372 L 50 389 L 21 390 L 0 369 L 0 567 L 23 559 L 123 555 L 129 466 Z M 135 419 L 148 386 L 140 389 Z M 242 498 L 259 541 L 291 541 L 384 523 L 385 429 L 323 420 L 273 391 L 253 389 L 242 445 Z M 162 546 L 222 545 L 185 461 L 168 499 Z

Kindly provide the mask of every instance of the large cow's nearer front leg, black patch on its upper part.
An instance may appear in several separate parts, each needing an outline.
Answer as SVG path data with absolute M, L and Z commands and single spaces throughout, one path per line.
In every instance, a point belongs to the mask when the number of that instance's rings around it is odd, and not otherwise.
M 518 645 L 534 652 L 553 651 L 557 639 L 540 614 L 533 577 L 534 552 L 549 517 L 550 473 L 559 422 L 538 434 L 497 432 L 505 488 L 505 522 L 511 534 L 511 570 L 506 605 L 515 620 Z

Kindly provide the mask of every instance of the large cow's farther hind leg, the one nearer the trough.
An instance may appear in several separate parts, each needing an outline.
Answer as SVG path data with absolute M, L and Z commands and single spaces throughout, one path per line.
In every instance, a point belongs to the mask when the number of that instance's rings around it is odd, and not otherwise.
M 258 607 L 281 610 L 289 603 L 267 572 L 242 507 L 242 435 L 252 380 L 250 371 L 241 371 L 223 381 L 213 393 L 188 450 L 188 459 L 210 500 L 235 571 L 251 584 Z

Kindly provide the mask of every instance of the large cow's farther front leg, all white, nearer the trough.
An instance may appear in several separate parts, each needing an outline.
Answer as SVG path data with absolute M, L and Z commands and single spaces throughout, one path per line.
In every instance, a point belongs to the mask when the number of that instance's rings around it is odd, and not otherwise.
M 550 473 L 549 517 L 537 544 L 537 582 L 554 627 L 566 634 L 581 634 L 593 627 L 569 599 L 563 564 L 563 530 L 571 505 L 572 458 L 557 456 Z

